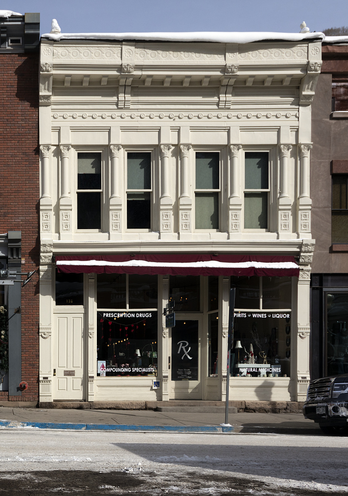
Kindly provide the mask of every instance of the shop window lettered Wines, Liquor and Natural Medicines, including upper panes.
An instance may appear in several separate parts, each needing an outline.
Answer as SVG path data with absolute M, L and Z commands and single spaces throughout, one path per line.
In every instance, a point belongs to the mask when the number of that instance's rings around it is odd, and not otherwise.
M 251 280 L 249 289 L 248 280 Z M 289 377 L 292 349 L 290 278 L 233 277 L 231 284 L 236 290 L 233 374 Z M 255 305 L 257 295 L 257 310 L 245 307 L 246 301 Z M 280 309 L 280 303 L 284 305 L 283 309 Z

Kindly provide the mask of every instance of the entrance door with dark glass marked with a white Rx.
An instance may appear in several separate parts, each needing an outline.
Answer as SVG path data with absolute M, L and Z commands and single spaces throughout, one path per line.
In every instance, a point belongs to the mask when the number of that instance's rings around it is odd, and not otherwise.
M 180 315 L 170 330 L 170 399 L 202 399 L 202 318 Z

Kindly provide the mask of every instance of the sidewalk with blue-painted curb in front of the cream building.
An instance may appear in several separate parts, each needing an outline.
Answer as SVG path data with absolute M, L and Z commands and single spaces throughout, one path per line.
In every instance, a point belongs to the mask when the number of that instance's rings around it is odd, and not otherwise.
M 39 428 L 74 430 L 321 434 L 317 424 L 306 420 L 302 414 L 295 413 L 230 413 L 229 424 L 232 428 L 226 428 L 221 426 L 225 423 L 225 415 L 221 413 L 60 410 L 0 406 L 0 427 L 25 427 L 23 423 Z

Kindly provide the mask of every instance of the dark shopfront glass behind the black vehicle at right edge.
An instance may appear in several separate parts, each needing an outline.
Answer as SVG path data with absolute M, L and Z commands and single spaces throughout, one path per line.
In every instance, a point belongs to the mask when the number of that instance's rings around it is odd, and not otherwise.
M 326 294 L 327 375 L 348 372 L 348 293 Z

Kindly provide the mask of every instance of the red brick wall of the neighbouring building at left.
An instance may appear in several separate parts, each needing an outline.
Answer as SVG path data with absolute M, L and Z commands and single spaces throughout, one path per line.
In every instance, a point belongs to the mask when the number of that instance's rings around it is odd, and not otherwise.
M 0 233 L 22 232 L 22 272 L 39 267 L 38 74 L 39 54 L 0 54 Z M 36 401 L 39 372 L 39 276 L 22 288 L 21 396 L 0 401 Z

